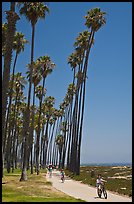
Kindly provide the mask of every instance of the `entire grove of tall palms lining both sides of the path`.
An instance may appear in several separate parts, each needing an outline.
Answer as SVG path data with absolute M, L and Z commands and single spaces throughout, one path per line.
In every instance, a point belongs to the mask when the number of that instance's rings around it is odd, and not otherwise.
M 21 73 L 15 73 L 18 56 L 29 43 L 22 33 L 16 32 L 16 22 L 20 19 L 15 13 L 16 4 L 20 14 L 26 16 L 32 27 L 27 79 Z M 7 172 L 10 172 L 17 168 L 19 162 L 22 170 L 20 181 L 27 180 L 28 169 L 33 174 L 35 167 L 39 175 L 40 168 L 45 168 L 49 163 L 59 168 L 66 165 L 73 173 L 80 173 L 88 59 L 94 34 L 105 24 L 105 12 L 99 8 L 88 11 L 85 16 L 88 30 L 76 38 L 74 52 L 68 58 L 73 81 L 59 109 L 56 109 L 55 98 L 47 96 L 46 90 L 46 79 L 53 72 L 55 64 L 50 56 L 34 60 L 35 26 L 40 18 L 45 18 L 46 13 L 49 13 L 49 9 L 43 2 L 11 2 L 10 11 L 7 12 L 8 21 L 2 25 L 2 166 L 4 170 L 6 164 Z M 12 52 L 16 54 L 10 74 Z M 27 83 L 26 97 L 24 88 Z M 35 104 L 36 99 L 38 104 Z

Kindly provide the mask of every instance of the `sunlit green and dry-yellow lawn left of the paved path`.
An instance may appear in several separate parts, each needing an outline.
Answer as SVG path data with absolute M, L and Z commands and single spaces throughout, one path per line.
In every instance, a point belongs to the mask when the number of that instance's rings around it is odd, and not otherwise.
M 81 202 L 52 187 L 46 181 L 45 172 L 30 175 L 28 180 L 20 182 L 20 170 L 4 173 L 2 179 L 2 202 Z

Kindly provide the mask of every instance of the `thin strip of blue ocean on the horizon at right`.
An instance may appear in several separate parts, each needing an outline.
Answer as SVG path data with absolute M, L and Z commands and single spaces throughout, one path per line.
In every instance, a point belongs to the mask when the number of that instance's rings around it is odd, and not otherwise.
M 130 166 L 132 163 L 81 163 L 80 166 Z

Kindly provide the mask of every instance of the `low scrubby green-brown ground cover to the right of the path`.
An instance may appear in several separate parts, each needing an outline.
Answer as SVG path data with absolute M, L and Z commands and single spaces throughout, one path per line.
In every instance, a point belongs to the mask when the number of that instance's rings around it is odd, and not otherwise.
M 91 171 L 94 171 L 94 176 L 91 177 Z M 121 195 L 132 196 L 132 179 L 123 178 L 110 178 L 113 176 L 129 176 L 132 175 L 132 168 L 112 168 L 110 166 L 81 166 L 80 175 L 73 175 L 68 170 L 65 170 L 66 175 L 70 176 L 74 180 L 82 181 L 82 183 L 89 184 L 91 186 L 96 185 L 96 178 L 98 174 L 101 174 L 103 179 L 107 180 L 105 187 L 107 190 L 119 193 Z M 119 175 L 118 175 L 119 173 Z M 122 189 L 126 188 L 126 189 Z

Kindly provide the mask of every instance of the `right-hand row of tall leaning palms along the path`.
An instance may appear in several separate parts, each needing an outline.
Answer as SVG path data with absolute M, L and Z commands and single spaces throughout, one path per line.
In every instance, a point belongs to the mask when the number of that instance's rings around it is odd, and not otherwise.
M 105 12 L 100 8 L 91 9 L 85 16 L 88 30 L 79 33 L 74 43 L 74 52 L 68 57 L 68 63 L 73 70 L 73 82 L 69 85 L 63 100 L 64 131 L 60 135 L 60 161 L 74 174 L 80 174 L 80 150 L 84 119 L 85 91 L 89 54 L 94 44 L 95 33 L 106 23 Z

